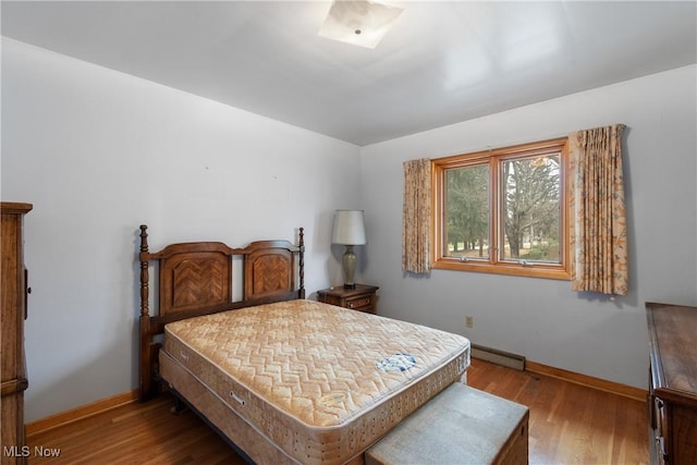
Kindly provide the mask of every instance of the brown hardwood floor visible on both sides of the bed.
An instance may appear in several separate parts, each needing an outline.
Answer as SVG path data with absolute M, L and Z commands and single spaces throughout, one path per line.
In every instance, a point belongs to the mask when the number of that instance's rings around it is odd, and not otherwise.
M 649 463 L 643 402 L 478 359 L 467 378 L 530 408 L 530 464 Z M 32 435 L 29 465 L 244 463 L 195 414 L 172 415 L 171 406 L 162 396 Z

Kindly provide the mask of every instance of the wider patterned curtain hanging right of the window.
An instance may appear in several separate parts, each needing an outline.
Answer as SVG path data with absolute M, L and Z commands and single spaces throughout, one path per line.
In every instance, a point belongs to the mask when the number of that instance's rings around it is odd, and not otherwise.
M 572 289 L 627 295 L 623 124 L 570 135 Z

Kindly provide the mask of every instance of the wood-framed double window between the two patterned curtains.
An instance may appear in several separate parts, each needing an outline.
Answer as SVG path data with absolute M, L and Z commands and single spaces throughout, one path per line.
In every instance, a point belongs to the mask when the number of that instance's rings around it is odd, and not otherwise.
M 433 268 L 570 279 L 566 140 L 433 160 Z

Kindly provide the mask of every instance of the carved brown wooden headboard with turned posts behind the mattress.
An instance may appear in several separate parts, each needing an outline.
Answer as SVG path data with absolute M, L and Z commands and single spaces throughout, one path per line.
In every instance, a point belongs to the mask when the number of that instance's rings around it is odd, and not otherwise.
M 249 307 L 272 302 L 305 298 L 304 230 L 297 245 L 289 241 L 256 241 L 243 248 L 221 242 L 171 244 L 151 253 L 147 225 L 140 227 L 140 400 L 157 388 L 158 352 L 156 335 L 164 325 L 199 315 Z M 242 280 L 233 279 L 234 258 L 242 259 Z M 159 298 L 150 313 L 150 277 L 158 270 Z M 236 282 L 242 290 L 233 289 Z M 234 291 L 234 292 L 233 292 Z M 233 296 L 237 299 L 233 301 Z

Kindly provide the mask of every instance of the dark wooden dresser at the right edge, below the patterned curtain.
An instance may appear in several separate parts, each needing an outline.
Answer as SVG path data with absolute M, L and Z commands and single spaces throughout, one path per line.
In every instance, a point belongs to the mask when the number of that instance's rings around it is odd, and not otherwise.
M 655 464 L 697 461 L 697 307 L 646 304 L 649 450 Z

